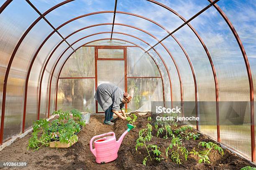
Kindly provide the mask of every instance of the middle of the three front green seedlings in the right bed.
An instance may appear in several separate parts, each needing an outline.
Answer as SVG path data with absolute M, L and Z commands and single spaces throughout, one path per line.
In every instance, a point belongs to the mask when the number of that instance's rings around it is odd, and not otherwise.
M 174 150 L 173 150 L 174 149 Z M 185 160 L 187 161 L 188 156 L 188 150 L 182 146 L 182 142 L 180 138 L 173 138 L 171 144 L 168 148 L 166 148 L 165 153 L 168 158 L 169 150 L 172 150 L 171 152 L 171 159 L 176 164 L 181 164 L 181 155 L 184 155 Z

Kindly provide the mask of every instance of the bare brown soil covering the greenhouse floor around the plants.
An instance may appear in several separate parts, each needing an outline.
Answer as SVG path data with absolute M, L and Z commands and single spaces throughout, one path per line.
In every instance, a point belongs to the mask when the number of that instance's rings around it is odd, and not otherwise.
M 135 122 L 136 128 L 125 136 L 118 151 L 118 158 L 111 163 L 97 164 L 95 162 L 95 157 L 90 152 L 90 139 L 95 135 L 110 131 L 114 131 L 118 139 L 127 129 L 127 121 L 119 119 L 114 126 L 108 126 L 102 123 L 104 120 L 102 115 L 91 115 L 90 124 L 82 129 L 78 134 L 78 142 L 70 148 L 42 147 L 38 151 L 27 150 L 28 139 L 31 137 L 31 133 L 29 133 L 0 151 L 0 162 L 27 162 L 28 165 L 22 168 L 24 170 L 240 170 L 249 165 L 247 160 L 225 149 L 223 156 L 213 151 L 210 155 L 210 164 L 199 164 L 199 158 L 189 154 L 187 161 L 182 157 L 182 164 L 177 165 L 170 158 L 166 158 L 165 154 L 162 154 L 165 159 L 160 163 L 148 160 L 147 166 L 144 166 L 142 161 L 147 156 L 147 152 L 143 148 L 138 148 L 136 151 L 135 145 L 138 131 L 146 128 L 148 116 L 151 116 L 150 113 L 138 116 Z M 156 130 L 153 130 L 152 135 L 154 137 L 149 144 L 158 145 L 161 152 L 164 153 L 164 150 L 171 143 L 171 139 L 157 138 Z M 197 149 L 200 141 L 210 142 L 212 140 L 205 135 L 200 135 L 197 140 L 182 140 L 182 144 L 191 151 Z M 6 169 L 18 170 L 21 168 L 2 168 L 1 170 Z

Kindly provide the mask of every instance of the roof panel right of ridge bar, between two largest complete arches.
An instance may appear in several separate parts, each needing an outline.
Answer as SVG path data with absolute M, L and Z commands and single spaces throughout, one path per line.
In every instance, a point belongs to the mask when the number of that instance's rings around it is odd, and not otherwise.
M 159 27 L 158 25 L 156 25 L 148 20 L 133 16 L 133 15 L 116 13 L 115 14 L 115 23 L 122 23 L 125 25 L 132 25 L 134 27 L 141 28 L 147 32 L 150 32 L 152 35 L 157 37 L 159 40 L 161 40 L 166 35 L 168 35 L 168 33 L 165 30 L 163 30 L 161 27 Z

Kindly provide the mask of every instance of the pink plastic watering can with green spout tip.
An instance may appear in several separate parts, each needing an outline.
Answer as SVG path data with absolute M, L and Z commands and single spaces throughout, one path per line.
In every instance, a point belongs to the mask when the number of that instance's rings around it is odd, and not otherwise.
M 121 137 L 116 141 L 115 139 L 115 133 L 109 132 L 109 133 L 104 133 L 101 135 L 94 136 L 90 140 L 90 150 L 93 153 L 93 155 L 96 158 L 97 163 L 109 163 L 113 160 L 116 160 L 118 157 L 117 153 L 120 148 L 120 145 L 123 141 L 124 136 L 134 128 L 133 125 L 127 124 L 128 129 L 125 130 L 125 132 L 121 135 Z M 112 136 L 107 136 L 107 135 L 112 135 Z M 100 138 L 102 136 L 106 136 L 104 138 Z M 95 140 L 96 138 L 100 138 L 98 140 Z M 94 141 L 94 149 L 92 149 L 92 142 Z

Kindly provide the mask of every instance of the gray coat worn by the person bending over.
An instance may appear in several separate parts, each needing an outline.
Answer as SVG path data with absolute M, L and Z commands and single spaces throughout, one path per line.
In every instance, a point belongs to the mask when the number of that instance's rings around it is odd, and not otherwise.
M 94 98 L 98 101 L 100 107 L 104 111 L 106 111 L 112 104 L 112 110 L 118 110 L 119 108 L 125 108 L 123 94 L 124 91 L 120 89 L 120 87 L 109 83 L 103 83 L 97 87 Z

